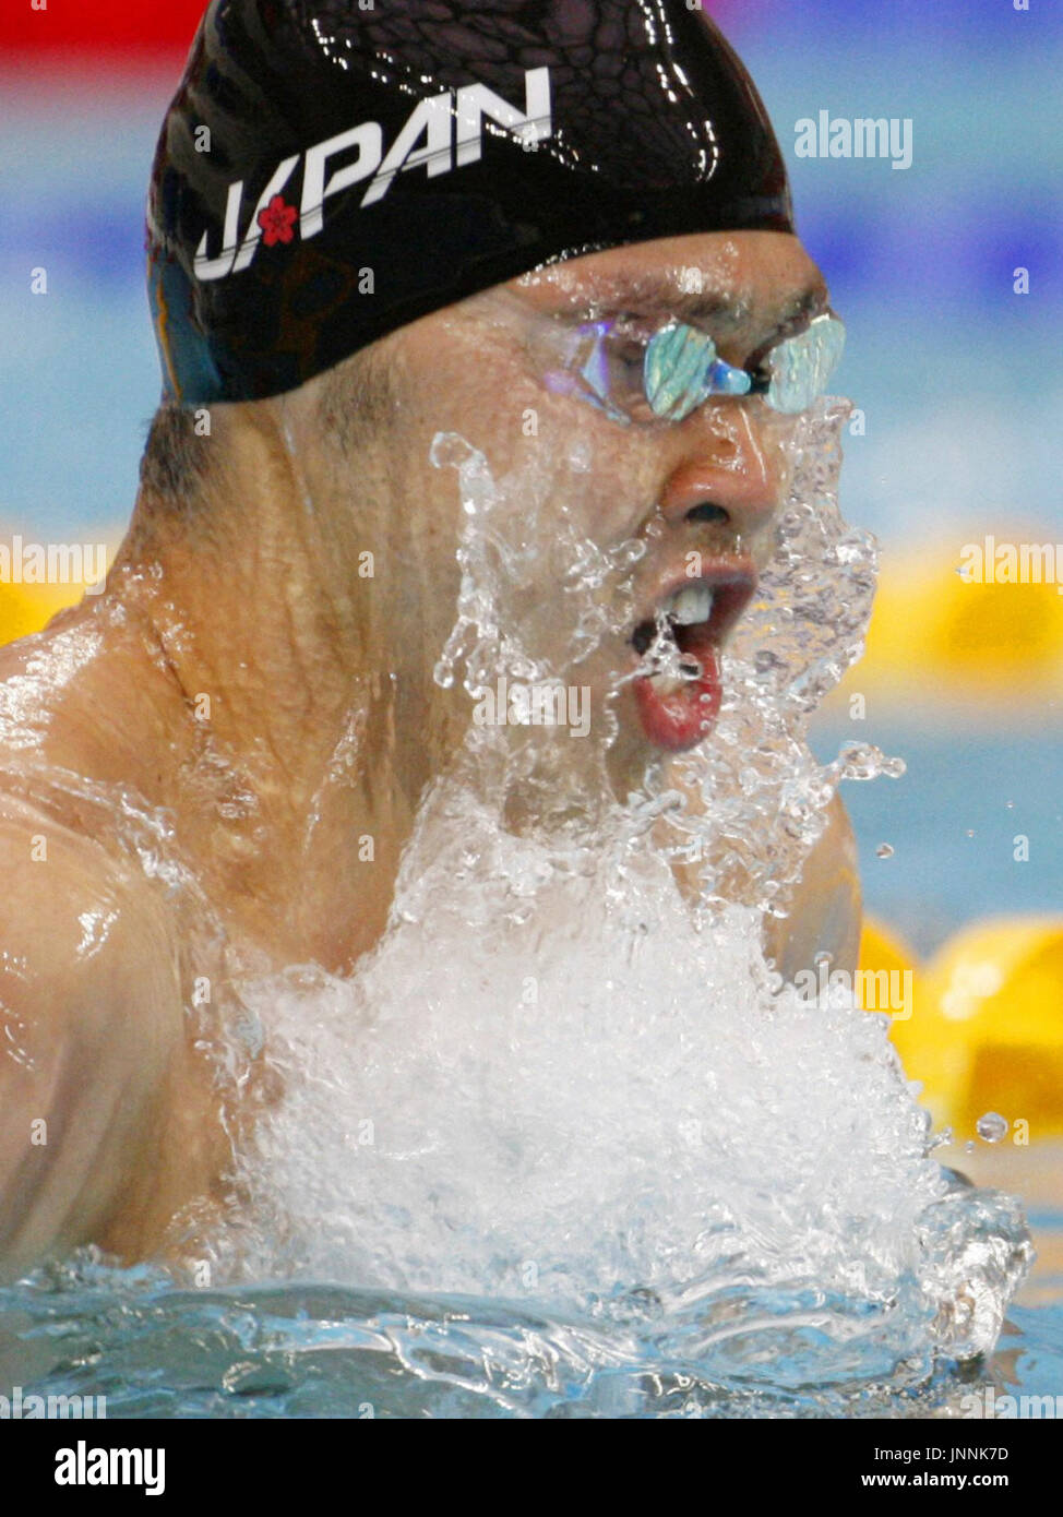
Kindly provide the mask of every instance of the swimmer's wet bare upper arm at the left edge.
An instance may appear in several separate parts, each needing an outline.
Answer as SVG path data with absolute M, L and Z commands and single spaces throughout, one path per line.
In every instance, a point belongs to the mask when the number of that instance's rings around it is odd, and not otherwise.
M 0 880 L 0 1270 L 135 1253 L 182 1041 L 156 903 L 96 843 L 9 813 Z

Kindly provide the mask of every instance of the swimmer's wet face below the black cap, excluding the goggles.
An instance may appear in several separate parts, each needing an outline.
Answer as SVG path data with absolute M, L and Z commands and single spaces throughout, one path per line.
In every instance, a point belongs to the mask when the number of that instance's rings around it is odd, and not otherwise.
M 384 573 L 399 587 L 391 605 L 402 607 L 393 646 L 379 651 L 387 667 L 419 681 L 425 699 L 443 698 L 431 669 L 455 620 L 469 519 L 453 469 L 432 467 L 429 452 L 437 434 L 455 432 L 484 454 L 502 493 L 493 516 L 508 549 L 493 587 L 502 631 L 563 683 L 591 687 L 617 781 L 637 783 L 649 760 L 705 740 L 719 649 L 773 554 L 796 423 L 763 396 L 711 397 L 679 422 L 646 407 L 619 414 L 558 382 L 550 344 L 588 320 L 623 317 L 640 334 L 675 319 L 711 335 L 726 364 L 755 367 L 826 308 L 796 237 L 707 234 L 552 265 L 378 344 L 394 400 L 365 467 L 390 496 L 378 581 Z M 634 563 L 619 552 L 631 542 L 641 545 Z M 566 569 L 585 561 L 578 543 L 614 557 L 602 569 L 607 560 L 591 554 L 591 573 L 573 576 Z M 634 677 L 649 667 L 648 651 L 664 672 Z M 461 692 L 447 699 L 472 710 Z

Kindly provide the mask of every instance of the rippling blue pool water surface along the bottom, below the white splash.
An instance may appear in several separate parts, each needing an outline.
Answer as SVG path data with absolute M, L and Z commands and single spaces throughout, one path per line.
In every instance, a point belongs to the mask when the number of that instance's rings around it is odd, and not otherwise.
M 1063 1215 L 1052 1227 L 1063 1239 Z M 802 1333 L 773 1333 L 779 1303 L 735 1294 L 748 1362 L 719 1374 L 646 1324 L 328 1283 L 190 1291 L 89 1258 L 0 1291 L 0 1376 L 24 1396 L 106 1396 L 109 1418 L 937 1417 L 972 1390 L 1063 1385 L 1063 1296 L 1014 1306 L 989 1364 L 913 1364 L 905 1384 L 839 1362 L 816 1390 L 802 1352 L 823 1303 L 805 1305 Z

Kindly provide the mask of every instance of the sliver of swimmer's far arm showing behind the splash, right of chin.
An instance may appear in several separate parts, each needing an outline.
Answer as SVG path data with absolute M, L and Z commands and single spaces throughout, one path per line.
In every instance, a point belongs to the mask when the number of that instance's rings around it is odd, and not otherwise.
M 829 953 L 833 969 L 852 974 L 860 956 L 863 901 L 857 840 L 849 813 L 836 795 L 823 836 L 808 854 L 785 918 L 764 921 L 764 953 L 784 980 L 811 969 Z

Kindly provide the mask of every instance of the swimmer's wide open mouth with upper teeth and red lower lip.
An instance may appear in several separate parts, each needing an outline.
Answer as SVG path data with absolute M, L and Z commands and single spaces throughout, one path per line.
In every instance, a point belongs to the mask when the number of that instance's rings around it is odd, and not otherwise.
M 723 695 L 720 649 L 755 589 L 748 560 L 717 563 L 698 579 L 666 584 L 654 614 L 635 627 L 635 702 L 657 748 L 682 752 L 711 731 Z

